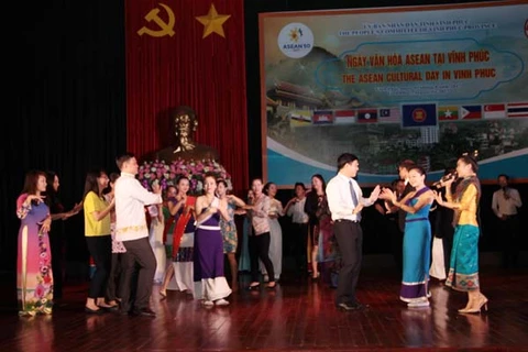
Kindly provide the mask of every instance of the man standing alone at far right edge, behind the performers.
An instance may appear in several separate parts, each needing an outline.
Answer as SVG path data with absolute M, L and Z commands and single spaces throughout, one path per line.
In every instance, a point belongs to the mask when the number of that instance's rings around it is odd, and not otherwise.
M 501 242 L 503 245 L 503 267 L 517 266 L 519 255 L 519 219 L 517 208 L 522 206 L 519 191 L 509 187 L 508 175 L 497 177 L 501 189 L 493 194 L 492 209 L 501 222 Z

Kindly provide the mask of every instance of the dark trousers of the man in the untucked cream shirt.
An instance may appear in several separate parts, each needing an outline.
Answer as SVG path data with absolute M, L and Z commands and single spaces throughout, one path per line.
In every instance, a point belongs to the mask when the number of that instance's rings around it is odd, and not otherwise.
M 152 251 L 148 238 L 133 241 L 123 241 L 127 253 L 121 257 L 121 310 L 128 311 L 133 306 L 135 309 L 147 308 L 152 294 L 152 283 L 156 272 L 156 257 Z M 132 302 L 131 293 L 134 292 L 134 274 L 138 270 L 135 300 Z M 134 285 L 135 286 L 135 285 Z

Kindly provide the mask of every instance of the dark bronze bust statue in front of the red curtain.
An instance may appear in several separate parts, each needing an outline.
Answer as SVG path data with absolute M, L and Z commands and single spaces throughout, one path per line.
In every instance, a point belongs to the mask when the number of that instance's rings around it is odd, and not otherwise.
M 154 152 L 147 158 L 165 161 L 165 163 L 177 158 L 219 161 L 218 152 L 215 148 L 198 144 L 193 140 L 198 128 L 198 120 L 191 108 L 185 106 L 176 108 L 170 114 L 170 122 L 176 136 L 175 145 Z

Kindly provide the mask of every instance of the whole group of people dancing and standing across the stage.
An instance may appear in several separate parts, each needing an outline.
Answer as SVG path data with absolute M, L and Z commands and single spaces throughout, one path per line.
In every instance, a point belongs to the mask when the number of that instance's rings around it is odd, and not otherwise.
M 457 177 L 438 183 L 442 191 L 426 186 L 424 168 L 405 161 L 399 165 L 402 182 L 395 183 L 393 189 L 376 186 L 370 197 L 363 196 L 355 180 L 358 157 L 344 153 L 337 164 L 338 174 L 328 185 L 321 175 L 312 176 L 308 194 L 302 184 L 296 184 L 295 197 L 284 209 L 275 199 L 276 185 L 264 185 L 261 178 L 253 179 L 246 201 L 228 195 L 226 180 L 212 175 L 205 177 L 202 196 L 189 196 L 189 179 L 183 177 L 167 187 L 162 197 L 158 184 L 154 183 L 148 191 L 139 183 L 138 162 L 134 155 L 124 154 L 117 158 L 120 174 L 109 177 L 103 170 L 88 173 L 82 202 L 65 211 L 53 196 L 58 177 L 47 175 L 46 182 L 45 173 L 31 172 L 16 201 L 21 219 L 20 314 L 51 314 L 61 282 L 52 267 L 62 271 L 61 264 L 52 262 L 50 239 L 53 238 L 48 238 L 52 220 L 65 220 L 81 208 L 87 246 L 96 265 L 85 306 L 87 312 L 119 309 L 122 314 L 155 316 L 148 301 L 156 280 L 161 283 L 163 298 L 167 297 L 167 289 L 175 288 L 201 299 L 206 307 L 229 305 L 226 298 L 238 288 L 235 213 L 245 215 L 248 220 L 251 263 L 248 289 L 258 289 L 261 276 L 265 276 L 266 288 L 276 287 L 283 256 L 277 218 L 290 216 L 290 238 L 299 272 L 309 270 L 317 280 L 318 263 L 339 258 L 336 306 L 345 311 L 362 309 L 365 306 L 355 294 L 362 262 L 362 209 L 378 198 L 384 200 L 387 213 L 398 215 L 398 228 L 404 232 L 400 299 L 409 307 L 429 306 L 432 232 L 429 211 L 436 201 L 439 207 L 453 210 L 450 222 L 454 234 L 446 285 L 468 293 L 468 304 L 460 312 L 479 312 L 487 307 L 479 280 L 481 186 L 476 176 L 479 166 L 472 156 L 458 160 Z M 518 194 L 503 187 L 502 194 L 494 195 L 497 217 L 505 223 L 515 218 L 507 205 L 514 202 L 519 207 L 519 201 Z M 507 224 L 515 226 L 512 223 Z M 162 243 L 161 251 L 156 251 L 156 243 Z M 224 275 L 224 254 L 230 263 L 231 286 Z

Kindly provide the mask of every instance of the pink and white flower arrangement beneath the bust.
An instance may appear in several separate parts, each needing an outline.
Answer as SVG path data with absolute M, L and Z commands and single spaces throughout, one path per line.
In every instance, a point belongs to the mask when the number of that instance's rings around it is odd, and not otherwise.
M 189 194 L 197 196 L 204 190 L 206 174 L 212 174 L 216 178 L 223 178 L 228 188 L 232 188 L 231 176 L 218 162 L 211 160 L 194 161 L 178 158 L 169 164 L 165 161 L 144 162 L 140 166 L 138 179 L 146 189 L 152 189 L 154 182 L 160 183 L 162 189 L 175 186 L 183 176 L 189 179 Z

